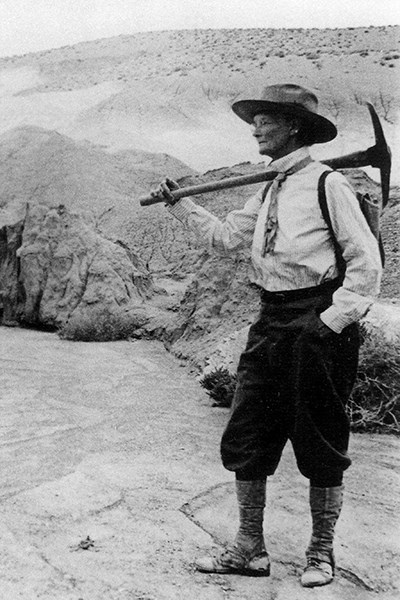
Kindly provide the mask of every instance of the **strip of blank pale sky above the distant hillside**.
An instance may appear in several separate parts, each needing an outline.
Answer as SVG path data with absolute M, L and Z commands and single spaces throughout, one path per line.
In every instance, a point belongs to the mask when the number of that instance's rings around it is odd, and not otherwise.
M 400 0 L 0 0 L 0 56 L 138 31 L 399 24 Z

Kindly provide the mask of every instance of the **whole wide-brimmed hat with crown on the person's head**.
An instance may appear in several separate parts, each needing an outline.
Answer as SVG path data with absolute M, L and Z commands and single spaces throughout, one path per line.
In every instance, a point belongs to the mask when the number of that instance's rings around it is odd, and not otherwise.
M 335 125 L 318 113 L 317 96 L 291 83 L 269 85 L 257 100 L 239 100 L 232 104 L 232 110 L 246 123 L 253 123 L 256 115 L 280 113 L 301 118 L 314 143 L 333 140 L 337 135 Z

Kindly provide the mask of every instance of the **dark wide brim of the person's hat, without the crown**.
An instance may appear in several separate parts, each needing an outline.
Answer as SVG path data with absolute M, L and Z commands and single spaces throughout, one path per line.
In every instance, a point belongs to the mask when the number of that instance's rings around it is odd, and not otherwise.
M 316 144 L 330 142 L 337 136 L 336 126 L 329 119 L 296 104 L 269 102 L 268 100 L 239 100 L 232 104 L 232 110 L 250 125 L 253 124 L 254 117 L 263 112 L 299 117 L 307 123 Z

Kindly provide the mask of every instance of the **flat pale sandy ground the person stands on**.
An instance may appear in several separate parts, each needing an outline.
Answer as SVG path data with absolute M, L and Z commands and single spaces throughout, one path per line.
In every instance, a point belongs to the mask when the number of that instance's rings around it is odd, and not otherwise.
M 268 484 L 271 577 L 204 575 L 194 558 L 237 521 L 226 409 L 156 342 L 1 328 L 0 361 L 2 599 L 399 597 L 398 439 L 353 438 L 332 585 L 298 582 L 310 523 L 289 447 Z

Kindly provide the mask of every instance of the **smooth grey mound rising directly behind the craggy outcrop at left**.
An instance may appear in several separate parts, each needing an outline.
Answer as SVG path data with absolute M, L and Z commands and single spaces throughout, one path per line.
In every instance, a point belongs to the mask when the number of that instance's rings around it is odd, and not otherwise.
M 134 150 L 111 154 L 33 126 L 0 136 L 0 164 L 0 224 L 24 214 L 27 203 L 40 202 L 90 210 L 97 226 L 106 224 L 107 235 L 114 237 L 142 210 L 138 197 L 166 172 L 193 173 L 168 155 Z M 156 214 L 157 210 L 147 217 Z

